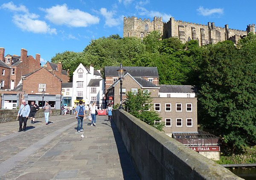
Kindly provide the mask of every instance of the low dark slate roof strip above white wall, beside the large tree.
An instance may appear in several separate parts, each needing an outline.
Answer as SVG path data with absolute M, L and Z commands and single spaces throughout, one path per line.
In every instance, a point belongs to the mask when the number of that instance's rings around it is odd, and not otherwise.
M 159 92 L 196 93 L 196 87 L 190 85 L 159 85 Z

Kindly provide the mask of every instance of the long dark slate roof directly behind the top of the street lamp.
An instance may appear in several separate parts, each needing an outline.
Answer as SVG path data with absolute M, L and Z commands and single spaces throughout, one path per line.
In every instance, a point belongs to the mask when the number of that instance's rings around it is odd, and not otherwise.
M 118 72 L 116 71 L 120 67 L 118 66 L 105 66 L 105 77 L 106 76 L 117 76 Z M 129 73 L 133 77 L 159 77 L 157 67 L 131 67 L 123 66 L 125 69 L 125 74 Z

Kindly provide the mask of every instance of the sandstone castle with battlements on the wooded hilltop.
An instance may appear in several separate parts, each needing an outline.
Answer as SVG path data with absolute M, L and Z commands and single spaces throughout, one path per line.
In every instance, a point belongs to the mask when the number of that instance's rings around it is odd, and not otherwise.
M 167 23 L 163 23 L 162 17 L 154 17 L 152 21 L 137 17 L 124 17 L 123 37 L 143 38 L 151 31 L 159 31 L 163 39 L 177 37 L 183 43 L 198 40 L 200 46 L 224 40 L 232 40 L 236 44 L 249 32 L 255 34 L 255 24 L 249 24 L 246 31 L 242 31 L 229 29 L 227 24 L 222 28 L 211 22 L 208 22 L 207 25 L 189 23 L 175 20 L 174 17 L 171 17 Z

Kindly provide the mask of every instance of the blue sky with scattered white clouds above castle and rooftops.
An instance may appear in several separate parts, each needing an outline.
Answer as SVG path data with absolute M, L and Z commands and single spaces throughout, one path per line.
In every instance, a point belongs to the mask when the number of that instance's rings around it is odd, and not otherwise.
M 92 39 L 123 34 L 123 17 L 170 17 L 191 23 L 246 30 L 256 24 L 255 0 L 1 0 L 0 47 L 5 55 L 20 49 L 41 63 L 56 53 L 81 52 Z

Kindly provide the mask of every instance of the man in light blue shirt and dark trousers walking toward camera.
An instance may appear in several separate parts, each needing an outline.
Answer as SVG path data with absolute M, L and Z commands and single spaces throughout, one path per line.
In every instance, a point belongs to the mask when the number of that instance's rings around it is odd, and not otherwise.
M 20 122 L 20 131 L 26 131 L 26 122 L 29 117 L 30 107 L 26 104 L 26 100 L 22 100 L 22 104 L 20 105 L 20 109 L 18 111 L 18 117 Z M 23 129 L 22 129 L 22 123 L 24 122 Z

